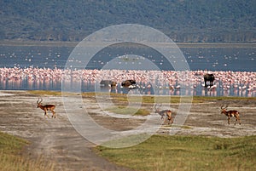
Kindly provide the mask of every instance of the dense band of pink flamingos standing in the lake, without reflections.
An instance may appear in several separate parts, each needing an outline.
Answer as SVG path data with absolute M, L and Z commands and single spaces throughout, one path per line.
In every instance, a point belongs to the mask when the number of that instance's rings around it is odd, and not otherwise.
M 204 88 L 203 75 L 212 72 L 215 77 L 212 87 Z M 229 91 L 236 94 L 256 96 L 256 72 L 247 71 L 133 71 L 133 70 L 63 70 L 49 68 L 0 68 L 0 83 L 30 83 L 41 82 L 90 82 L 99 83 L 101 80 L 112 80 L 121 83 L 126 79 L 134 79 L 140 88 L 168 89 L 170 92 L 180 88 L 189 91 L 201 87 L 202 91 L 216 92 L 219 88 L 224 95 Z M 118 84 L 119 85 L 119 84 Z M 1 88 L 1 84 L 0 84 Z M 4 85 L 2 85 L 4 89 Z

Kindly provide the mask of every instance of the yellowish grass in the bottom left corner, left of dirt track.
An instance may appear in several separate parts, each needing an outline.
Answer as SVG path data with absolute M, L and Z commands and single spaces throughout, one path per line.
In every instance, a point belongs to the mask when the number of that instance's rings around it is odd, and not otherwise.
M 52 164 L 45 164 L 42 159 L 30 161 L 20 156 L 22 148 L 28 145 L 26 140 L 0 132 L 0 170 L 6 171 L 42 171 L 54 170 Z

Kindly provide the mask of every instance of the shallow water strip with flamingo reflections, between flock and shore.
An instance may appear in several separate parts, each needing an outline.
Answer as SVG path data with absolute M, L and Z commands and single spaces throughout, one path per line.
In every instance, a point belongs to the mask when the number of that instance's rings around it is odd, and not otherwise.
M 221 84 L 221 83 L 217 83 Z M 81 92 L 109 92 L 113 94 L 157 94 L 157 95 L 193 95 L 193 96 L 239 96 L 239 97 L 256 97 L 256 91 L 248 91 L 247 89 L 238 88 L 205 88 L 201 83 L 195 84 L 195 88 L 189 88 L 181 85 L 182 88 L 162 88 L 155 86 L 154 88 L 129 89 L 121 88 L 118 84 L 115 88 L 99 88 L 96 81 L 64 81 L 60 79 L 0 79 L 0 89 L 3 90 L 53 90 L 61 91 L 61 85 L 65 86 L 67 91 L 73 92 L 74 88 L 81 89 Z M 232 85 L 231 85 L 232 87 Z

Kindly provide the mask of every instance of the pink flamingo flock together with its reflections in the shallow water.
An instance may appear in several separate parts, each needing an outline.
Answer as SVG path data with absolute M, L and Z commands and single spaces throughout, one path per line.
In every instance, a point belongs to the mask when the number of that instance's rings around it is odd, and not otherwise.
M 114 74 L 110 74 L 114 72 Z M 256 97 L 256 72 L 215 71 L 214 86 L 205 88 L 204 71 L 63 71 L 0 68 L 0 89 L 54 90 L 73 92 L 110 92 L 116 94 L 156 94 L 195 96 Z M 184 77 L 186 76 L 186 77 Z M 136 88 L 123 88 L 123 80 L 137 80 Z M 101 87 L 102 79 L 114 79 L 117 85 Z

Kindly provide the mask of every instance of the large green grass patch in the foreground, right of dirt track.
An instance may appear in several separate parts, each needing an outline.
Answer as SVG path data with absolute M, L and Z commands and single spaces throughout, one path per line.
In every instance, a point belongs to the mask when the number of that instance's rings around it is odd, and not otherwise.
M 139 145 L 96 152 L 136 170 L 256 170 L 256 136 L 218 138 L 154 135 Z

